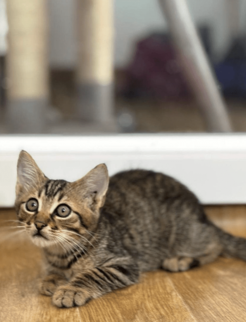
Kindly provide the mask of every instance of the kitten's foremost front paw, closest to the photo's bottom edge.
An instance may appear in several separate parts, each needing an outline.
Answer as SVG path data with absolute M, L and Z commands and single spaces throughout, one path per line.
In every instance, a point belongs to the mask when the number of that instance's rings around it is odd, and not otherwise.
M 52 302 L 59 308 L 71 308 L 81 306 L 90 300 L 89 292 L 86 289 L 64 285 L 59 286 L 52 297 Z

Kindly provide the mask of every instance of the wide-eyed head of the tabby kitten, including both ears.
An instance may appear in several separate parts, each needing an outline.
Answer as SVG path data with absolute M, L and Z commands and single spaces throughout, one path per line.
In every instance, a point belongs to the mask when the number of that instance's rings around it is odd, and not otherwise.
M 75 182 L 50 180 L 30 154 L 21 151 L 15 200 L 18 219 L 36 245 L 68 250 L 77 240 L 86 241 L 97 227 L 108 182 L 105 164 Z

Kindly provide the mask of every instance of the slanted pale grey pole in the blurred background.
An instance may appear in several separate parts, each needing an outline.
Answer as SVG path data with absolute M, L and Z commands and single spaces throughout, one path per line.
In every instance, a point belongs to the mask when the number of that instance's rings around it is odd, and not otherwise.
M 225 104 L 185 0 L 159 0 L 159 4 L 173 36 L 184 76 L 197 98 L 208 131 L 230 132 Z

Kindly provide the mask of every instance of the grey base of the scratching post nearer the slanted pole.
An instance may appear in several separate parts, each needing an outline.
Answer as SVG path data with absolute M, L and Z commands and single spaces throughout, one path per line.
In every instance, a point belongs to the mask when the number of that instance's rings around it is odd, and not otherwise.
M 112 84 L 78 84 L 77 95 L 77 118 L 91 123 L 114 123 Z

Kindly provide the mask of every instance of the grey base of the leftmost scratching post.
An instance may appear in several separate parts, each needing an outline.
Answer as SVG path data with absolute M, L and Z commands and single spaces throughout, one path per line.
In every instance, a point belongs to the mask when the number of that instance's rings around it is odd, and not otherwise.
M 19 99 L 7 102 L 6 123 L 9 133 L 44 133 L 47 99 Z

